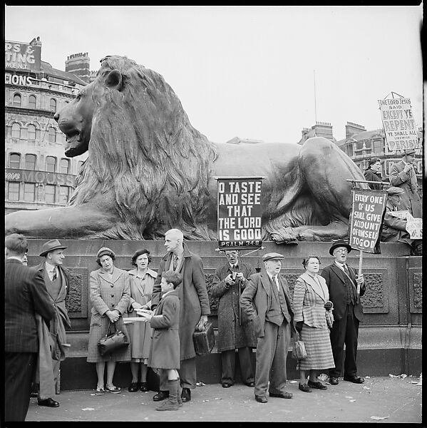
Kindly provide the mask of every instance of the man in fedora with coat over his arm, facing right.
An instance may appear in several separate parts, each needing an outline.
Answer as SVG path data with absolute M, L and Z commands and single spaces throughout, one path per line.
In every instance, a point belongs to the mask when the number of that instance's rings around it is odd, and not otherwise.
M 46 357 L 45 361 L 41 361 L 43 356 L 39 353 L 39 367 L 52 366 L 53 371 L 53 386 L 47 379 L 40 378 L 37 402 L 39 406 L 58 407 L 59 403 L 50 397 L 51 393 L 55 390 L 55 385 L 58 382 L 60 362 L 65 360 L 66 354 L 64 347 L 69 345 L 66 343 L 66 330 L 65 327 L 70 328 L 71 322 L 68 318 L 68 311 L 66 309 L 66 295 L 68 293 L 68 285 L 70 282 L 70 272 L 63 267 L 63 259 L 65 255 L 63 250 L 67 247 L 61 245 L 57 239 L 49 240 L 41 247 L 40 256 L 45 260 L 40 265 L 32 267 L 32 269 L 41 272 L 48 295 L 55 305 L 55 315 L 53 316 L 48 330 L 53 339 L 51 344 L 51 356 Z M 40 370 L 40 377 L 43 375 Z M 51 377 L 50 377 L 51 379 Z M 45 389 L 46 385 L 46 389 Z

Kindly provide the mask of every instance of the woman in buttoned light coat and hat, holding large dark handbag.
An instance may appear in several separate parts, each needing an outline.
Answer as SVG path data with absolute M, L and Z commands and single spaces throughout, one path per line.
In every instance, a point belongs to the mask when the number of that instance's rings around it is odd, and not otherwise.
M 113 384 L 116 362 L 130 361 L 130 347 L 123 347 L 107 355 L 101 355 L 98 342 L 106 337 L 114 323 L 116 330 L 128 335 L 123 324 L 122 315 L 128 310 L 130 300 L 130 277 L 128 272 L 114 266 L 115 254 L 110 248 L 98 250 L 96 263 L 101 266 L 90 275 L 91 286 L 91 328 L 89 330 L 89 346 L 87 362 L 96 363 L 98 384 L 96 394 L 102 395 L 105 391 L 119 394 L 120 388 Z M 112 328 L 111 328 L 112 327 Z M 104 387 L 104 372 L 107 363 L 107 382 Z

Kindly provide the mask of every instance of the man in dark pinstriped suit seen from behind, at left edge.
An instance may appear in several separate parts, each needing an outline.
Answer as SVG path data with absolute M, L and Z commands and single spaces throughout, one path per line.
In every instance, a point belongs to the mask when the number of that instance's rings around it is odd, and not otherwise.
M 39 272 L 23 265 L 24 235 L 4 239 L 4 419 L 24 421 L 38 353 L 36 314 L 49 322 L 55 308 Z

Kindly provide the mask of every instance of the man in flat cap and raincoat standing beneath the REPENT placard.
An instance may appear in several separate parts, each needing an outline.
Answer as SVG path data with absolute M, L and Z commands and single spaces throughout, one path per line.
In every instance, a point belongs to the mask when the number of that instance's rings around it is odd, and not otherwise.
M 392 186 L 401 188 L 404 192 L 402 193 L 401 210 L 408 210 L 412 217 L 423 218 L 416 172 L 413 169 L 414 163 L 415 151 L 413 148 L 403 151 L 402 160 L 391 165 L 389 178 Z

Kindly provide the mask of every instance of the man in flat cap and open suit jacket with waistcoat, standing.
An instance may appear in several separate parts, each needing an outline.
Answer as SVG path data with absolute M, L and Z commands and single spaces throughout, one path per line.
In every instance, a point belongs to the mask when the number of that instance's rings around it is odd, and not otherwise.
M 268 401 L 267 389 L 270 397 L 292 398 L 285 387 L 294 311 L 287 281 L 279 275 L 283 259 L 278 253 L 265 254 L 265 271 L 251 275 L 240 296 L 243 320 L 253 321 L 258 337 L 254 393 L 260 403 Z

